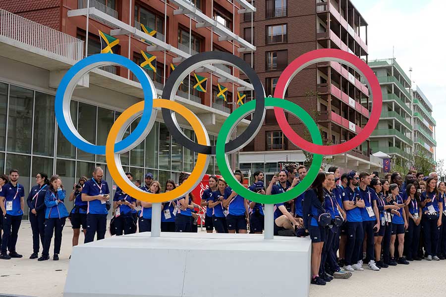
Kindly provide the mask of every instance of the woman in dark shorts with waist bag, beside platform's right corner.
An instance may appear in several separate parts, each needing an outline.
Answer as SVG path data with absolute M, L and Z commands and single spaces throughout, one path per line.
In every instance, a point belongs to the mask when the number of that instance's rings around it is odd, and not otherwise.
M 327 282 L 324 276 L 319 275 L 322 260 L 322 248 L 326 240 L 325 228 L 319 226 L 319 215 L 325 212 L 324 208 L 324 172 L 319 172 L 311 188 L 305 192 L 305 200 L 302 207 L 303 223 L 311 238 L 311 283 L 324 286 Z

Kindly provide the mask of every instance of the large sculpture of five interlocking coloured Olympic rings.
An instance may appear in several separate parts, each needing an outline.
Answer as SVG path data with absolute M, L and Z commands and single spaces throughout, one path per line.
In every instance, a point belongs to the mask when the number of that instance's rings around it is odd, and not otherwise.
M 354 68 L 368 84 L 370 96 L 373 99 L 373 110 L 364 129 L 353 139 L 334 146 L 323 146 L 319 129 L 313 118 L 299 105 L 283 99 L 292 78 L 300 70 L 310 64 L 325 61 L 337 61 Z M 224 63 L 239 68 L 250 79 L 255 92 L 254 100 L 236 108 L 225 120 L 217 137 L 216 146 L 210 146 L 209 135 L 200 119 L 192 111 L 174 101 L 176 90 L 184 76 L 210 63 Z M 141 83 L 144 100 L 133 104 L 122 112 L 111 127 L 106 145 L 97 146 L 86 141 L 77 132 L 71 120 L 69 107 L 78 80 L 94 68 L 105 65 L 123 66 L 132 71 Z M 338 49 L 317 49 L 295 59 L 279 77 L 274 96 L 275 98 L 265 98 L 265 91 L 258 75 L 244 60 L 230 53 L 209 51 L 195 54 L 180 63 L 166 81 L 162 96 L 165 99 L 157 99 L 152 80 L 140 66 L 123 56 L 101 53 L 84 58 L 67 71 L 56 92 L 55 112 L 57 124 L 66 139 L 75 147 L 86 152 L 105 155 L 111 177 L 116 185 L 136 199 L 155 203 L 167 202 L 185 196 L 199 184 L 206 173 L 210 156 L 215 155 L 222 176 L 232 190 L 251 201 L 274 204 L 299 196 L 313 183 L 322 164 L 323 154 L 344 153 L 364 142 L 377 126 L 383 104 L 378 79 L 370 67 L 355 55 Z M 314 155 L 305 179 L 290 191 L 279 195 L 261 195 L 246 189 L 235 179 L 227 158 L 229 153 L 243 148 L 254 139 L 263 124 L 268 108 L 274 108 L 279 126 L 291 143 Z M 127 179 L 119 155 L 135 148 L 146 138 L 160 109 L 166 126 L 176 142 L 191 151 L 197 152 L 198 158 L 194 170 L 183 184 L 167 193 L 151 194 L 137 188 Z M 286 120 L 284 110 L 297 116 L 306 125 L 313 143 L 302 139 L 292 130 Z M 189 122 L 197 137 L 197 143 L 190 140 L 181 131 L 175 113 L 180 114 Z M 237 124 L 249 114 L 252 114 L 252 120 L 246 130 L 235 139 L 230 140 L 230 135 Z M 141 116 L 141 120 L 135 130 L 123 139 L 128 125 L 139 116 Z

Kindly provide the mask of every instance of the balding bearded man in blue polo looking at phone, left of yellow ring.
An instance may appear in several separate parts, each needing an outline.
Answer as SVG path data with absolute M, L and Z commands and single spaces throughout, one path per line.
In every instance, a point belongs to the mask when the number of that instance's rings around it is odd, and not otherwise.
M 87 201 L 87 233 L 84 243 L 105 238 L 107 231 L 107 201 L 109 201 L 109 185 L 103 181 L 104 171 L 96 167 L 93 178 L 85 182 L 82 188 L 82 201 Z

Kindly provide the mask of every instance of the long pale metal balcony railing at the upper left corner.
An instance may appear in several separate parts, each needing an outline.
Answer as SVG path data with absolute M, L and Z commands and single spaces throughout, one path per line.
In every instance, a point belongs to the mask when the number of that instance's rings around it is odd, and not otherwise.
M 68 34 L 0 9 L 0 36 L 78 61 L 84 42 Z

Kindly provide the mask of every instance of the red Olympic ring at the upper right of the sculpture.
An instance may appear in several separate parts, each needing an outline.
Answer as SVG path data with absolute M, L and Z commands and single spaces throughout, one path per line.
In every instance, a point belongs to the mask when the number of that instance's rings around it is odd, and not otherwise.
M 356 70 L 364 77 L 371 88 L 372 96 L 372 113 L 370 114 L 369 121 L 367 122 L 364 129 L 355 137 L 349 141 L 332 146 L 322 146 L 310 143 L 297 135 L 293 129 L 288 124 L 285 112 L 283 108 L 274 107 L 274 114 L 276 115 L 279 127 L 282 129 L 285 136 L 297 147 L 302 148 L 308 152 L 319 153 L 325 155 L 340 154 L 347 152 L 353 148 L 360 146 L 364 143 L 367 138 L 372 134 L 373 130 L 378 125 L 378 121 L 381 115 L 381 109 L 383 107 L 383 95 L 381 94 L 380 83 L 377 77 L 373 73 L 372 69 L 357 56 L 339 49 L 316 49 L 307 52 L 289 64 L 282 75 L 279 77 L 279 81 L 276 85 L 276 90 L 274 92 L 275 98 L 284 98 L 284 94 L 288 84 L 292 78 L 303 68 L 310 64 L 314 64 L 320 61 L 326 61 L 327 58 L 330 60 L 339 61 L 341 63 L 349 63 L 349 66 L 356 68 Z

